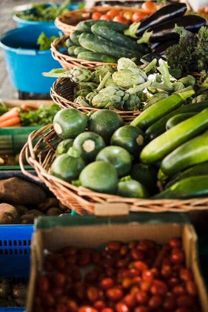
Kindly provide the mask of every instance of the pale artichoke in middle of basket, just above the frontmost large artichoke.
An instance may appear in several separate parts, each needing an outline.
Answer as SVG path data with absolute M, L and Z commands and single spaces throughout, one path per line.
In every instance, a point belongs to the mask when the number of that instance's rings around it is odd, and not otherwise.
M 140 68 L 129 67 L 128 69 L 121 69 L 112 75 L 113 81 L 117 86 L 129 89 L 138 86 L 147 81 L 147 75 Z

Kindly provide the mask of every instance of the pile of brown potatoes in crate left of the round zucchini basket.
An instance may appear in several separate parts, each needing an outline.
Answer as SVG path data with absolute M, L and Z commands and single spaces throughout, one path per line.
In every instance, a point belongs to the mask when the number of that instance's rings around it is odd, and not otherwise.
M 70 211 L 55 197 L 46 197 L 34 183 L 17 177 L 0 180 L 0 225 L 33 224 L 38 216 L 59 216 L 65 212 Z

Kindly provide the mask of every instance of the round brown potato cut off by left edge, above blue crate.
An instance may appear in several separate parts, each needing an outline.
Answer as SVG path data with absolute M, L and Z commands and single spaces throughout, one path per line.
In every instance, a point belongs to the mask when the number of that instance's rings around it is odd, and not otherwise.
M 17 224 L 20 220 L 20 213 L 18 210 L 9 205 L 2 203 L 0 204 L 0 224 Z

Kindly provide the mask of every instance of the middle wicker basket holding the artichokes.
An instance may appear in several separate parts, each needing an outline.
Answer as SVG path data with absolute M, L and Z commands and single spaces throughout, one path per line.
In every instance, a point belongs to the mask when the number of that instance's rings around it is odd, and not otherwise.
M 99 111 L 100 109 L 94 107 L 85 107 L 77 103 L 73 103 L 73 88 L 76 86 L 75 83 L 70 82 L 68 78 L 59 78 L 54 83 L 50 89 L 50 96 L 54 103 L 56 103 L 60 108 L 76 108 L 82 113 L 90 113 L 91 111 Z M 140 111 L 116 111 L 123 119 L 124 122 L 130 122 L 134 120 Z

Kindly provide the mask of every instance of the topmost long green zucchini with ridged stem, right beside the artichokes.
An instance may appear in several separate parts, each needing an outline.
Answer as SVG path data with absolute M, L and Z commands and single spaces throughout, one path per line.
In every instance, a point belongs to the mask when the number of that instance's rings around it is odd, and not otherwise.
M 172 94 L 167 99 L 161 100 L 147 108 L 142 114 L 137 116 L 130 125 L 140 127 L 141 129 L 147 129 L 166 114 L 182 106 L 183 102 L 193 94 L 195 94 L 194 90 L 185 91 L 180 94 Z

